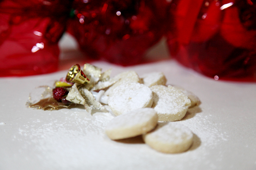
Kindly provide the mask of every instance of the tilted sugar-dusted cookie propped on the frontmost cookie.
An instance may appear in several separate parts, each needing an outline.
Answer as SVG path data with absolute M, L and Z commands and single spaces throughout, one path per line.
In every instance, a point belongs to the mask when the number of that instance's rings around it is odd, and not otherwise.
M 154 109 L 137 109 L 112 119 L 105 131 L 112 140 L 130 138 L 149 132 L 156 127 L 157 120 Z

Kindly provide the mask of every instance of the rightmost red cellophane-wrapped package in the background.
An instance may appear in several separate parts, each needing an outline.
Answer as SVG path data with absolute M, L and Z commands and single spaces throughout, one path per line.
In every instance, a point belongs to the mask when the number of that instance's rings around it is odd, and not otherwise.
M 173 3 L 176 29 L 168 45 L 175 59 L 212 78 L 256 82 L 255 0 Z M 186 8 L 191 3 L 200 8 Z

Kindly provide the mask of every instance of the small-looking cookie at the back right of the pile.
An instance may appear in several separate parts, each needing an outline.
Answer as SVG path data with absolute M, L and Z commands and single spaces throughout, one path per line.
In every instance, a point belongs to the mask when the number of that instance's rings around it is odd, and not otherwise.
M 148 87 L 153 85 L 166 85 L 166 77 L 162 72 L 143 74 L 140 78 L 142 83 Z

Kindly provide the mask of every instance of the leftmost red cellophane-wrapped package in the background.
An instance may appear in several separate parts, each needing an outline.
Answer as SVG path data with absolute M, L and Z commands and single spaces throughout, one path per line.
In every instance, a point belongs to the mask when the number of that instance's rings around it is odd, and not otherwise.
M 58 40 L 70 5 L 69 0 L 0 1 L 0 76 L 57 70 Z

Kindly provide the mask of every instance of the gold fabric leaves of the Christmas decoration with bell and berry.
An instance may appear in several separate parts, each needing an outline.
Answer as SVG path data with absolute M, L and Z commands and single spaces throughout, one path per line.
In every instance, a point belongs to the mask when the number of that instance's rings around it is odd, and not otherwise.
M 102 73 L 102 68 L 98 68 L 94 65 L 85 64 L 84 65 L 84 74 L 90 79 L 90 82 L 87 84 L 78 84 L 75 83 L 71 88 L 66 88 L 69 93 L 66 97 L 66 100 L 73 102 L 75 104 L 84 105 L 84 108 L 88 113 L 93 109 L 104 110 L 105 108 L 101 103 L 96 101 L 93 97 L 91 91 L 100 91 L 106 89 L 113 85 L 118 79 L 110 78 L 111 69 Z M 38 108 L 43 110 L 58 110 L 60 108 L 68 108 L 70 105 L 64 105 L 62 102 L 57 102 L 52 98 L 52 89 L 49 86 L 41 86 L 45 90 L 41 94 L 41 100 L 39 102 L 32 102 L 31 97 L 26 105 L 29 108 Z

